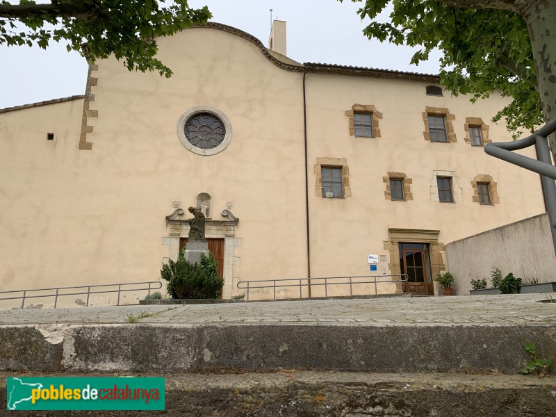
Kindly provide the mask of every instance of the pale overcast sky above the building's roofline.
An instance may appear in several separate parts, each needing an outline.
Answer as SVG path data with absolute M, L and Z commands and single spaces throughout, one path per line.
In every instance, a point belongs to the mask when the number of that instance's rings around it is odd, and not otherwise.
M 11 1 L 12 3 L 15 1 Z M 300 63 L 332 63 L 389 70 L 439 71 L 436 54 L 418 67 L 409 65 L 413 50 L 363 36 L 361 3 L 345 0 L 190 0 L 191 7 L 208 6 L 213 22 L 228 24 L 259 38 L 268 46 L 270 11 L 287 22 L 288 56 Z M 380 19 L 388 19 L 388 13 Z M 38 47 L 0 46 L 0 108 L 81 95 L 87 64 L 63 44 L 45 51 Z

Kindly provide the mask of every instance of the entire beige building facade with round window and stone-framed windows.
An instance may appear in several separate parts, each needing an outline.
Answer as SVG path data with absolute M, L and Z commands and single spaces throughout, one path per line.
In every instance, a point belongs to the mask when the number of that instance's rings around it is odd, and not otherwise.
M 484 153 L 511 138 L 491 122 L 502 97 L 296 63 L 277 33 L 273 51 L 229 26 L 188 29 L 158 40 L 170 79 L 101 60 L 83 97 L 0 111 L 0 290 L 159 279 L 195 205 L 224 298 L 254 279 L 400 273 L 432 295 L 446 243 L 545 211 L 537 174 Z

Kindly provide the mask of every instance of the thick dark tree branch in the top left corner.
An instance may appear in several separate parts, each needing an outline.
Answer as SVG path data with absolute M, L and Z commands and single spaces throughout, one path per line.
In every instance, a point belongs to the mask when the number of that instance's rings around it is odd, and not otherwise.
M 25 19 L 33 16 L 78 17 L 90 20 L 95 17 L 95 12 L 85 7 L 67 4 L 0 4 L 0 17 Z

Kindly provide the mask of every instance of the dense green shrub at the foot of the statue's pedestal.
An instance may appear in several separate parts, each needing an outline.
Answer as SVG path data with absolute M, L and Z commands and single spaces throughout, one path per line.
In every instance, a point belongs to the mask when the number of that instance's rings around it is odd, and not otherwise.
M 161 277 L 168 281 L 168 294 L 174 299 L 218 298 L 224 279 L 218 276 L 218 262 L 212 254 L 201 256 L 200 263 L 189 263 L 183 257 L 162 265 Z

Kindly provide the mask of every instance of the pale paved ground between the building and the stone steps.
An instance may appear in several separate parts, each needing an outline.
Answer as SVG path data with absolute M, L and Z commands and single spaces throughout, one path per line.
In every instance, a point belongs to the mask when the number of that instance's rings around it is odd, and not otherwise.
M 549 298 L 548 294 L 526 294 L 17 309 L 0 310 L 0 325 L 125 323 L 130 314 L 137 317 L 140 313 L 146 313 L 148 317 L 139 322 L 192 325 L 554 325 L 556 303 L 538 302 Z

